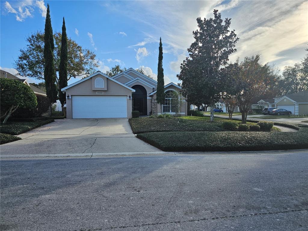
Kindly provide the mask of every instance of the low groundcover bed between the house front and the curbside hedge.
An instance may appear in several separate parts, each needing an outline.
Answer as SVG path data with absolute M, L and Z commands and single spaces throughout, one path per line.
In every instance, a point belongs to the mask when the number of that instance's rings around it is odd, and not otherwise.
M 135 134 L 143 132 L 167 131 L 223 131 L 220 123 L 207 121 L 185 120 L 173 117 L 167 118 L 132 118 L 128 120 Z

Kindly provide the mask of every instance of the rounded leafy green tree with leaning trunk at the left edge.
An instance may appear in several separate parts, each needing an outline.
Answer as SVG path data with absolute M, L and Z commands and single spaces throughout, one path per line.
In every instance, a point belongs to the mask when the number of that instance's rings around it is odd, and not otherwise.
M 0 88 L 3 124 L 17 108 L 33 109 L 38 104 L 34 91 L 18 80 L 1 78 Z

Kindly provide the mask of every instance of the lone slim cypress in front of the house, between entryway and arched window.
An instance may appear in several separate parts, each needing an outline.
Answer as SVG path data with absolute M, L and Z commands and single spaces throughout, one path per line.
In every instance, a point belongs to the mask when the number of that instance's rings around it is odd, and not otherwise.
M 164 94 L 164 68 L 163 68 L 163 44 L 161 38 L 159 42 L 158 67 L 157 67 L 157 92 L 156 101 L 161 105 L 161 113 L 163 113 L 163 104 L 165 102 Z

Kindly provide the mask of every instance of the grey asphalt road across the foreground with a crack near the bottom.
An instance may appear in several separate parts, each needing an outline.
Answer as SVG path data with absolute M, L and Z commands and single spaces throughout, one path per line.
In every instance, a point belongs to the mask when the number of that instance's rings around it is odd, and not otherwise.
M 308 153 L 1 161 L 1 230 L 308 229 Z

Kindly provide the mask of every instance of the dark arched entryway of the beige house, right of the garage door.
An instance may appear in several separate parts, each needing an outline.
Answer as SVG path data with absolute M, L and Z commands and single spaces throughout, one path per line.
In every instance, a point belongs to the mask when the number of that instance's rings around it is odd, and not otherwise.
M 140 115 L 148 115 L 147 90 L 141 85 L 132 87 L 136 91 L 132 94 L 133 111 L 139 111 Z

